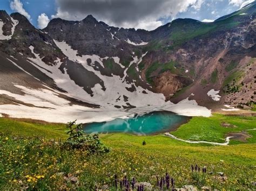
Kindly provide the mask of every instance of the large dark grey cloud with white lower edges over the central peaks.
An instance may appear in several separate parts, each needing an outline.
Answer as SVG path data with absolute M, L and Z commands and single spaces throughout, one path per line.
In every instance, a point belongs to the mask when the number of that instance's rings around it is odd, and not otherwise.
M 165 20 L 174 18 L 189 8 L 199 10 L 205 0 L 56 0 L 57 13 L 51 18 L 82 20 L 93 15 L 108 25 L 153 30 Z M 146 5 L 146 6 L 145 6 Z

